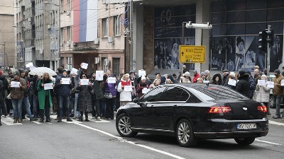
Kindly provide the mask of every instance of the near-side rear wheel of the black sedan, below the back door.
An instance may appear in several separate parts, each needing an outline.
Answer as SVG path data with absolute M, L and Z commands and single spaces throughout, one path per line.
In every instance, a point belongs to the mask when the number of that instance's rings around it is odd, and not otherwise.
M 181 119 L 176 128 L 178 143 L 182 147 L 193 147 L 197 144 L 197 139 L 193 133 L 193 128 L 187 119 Z

